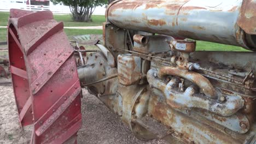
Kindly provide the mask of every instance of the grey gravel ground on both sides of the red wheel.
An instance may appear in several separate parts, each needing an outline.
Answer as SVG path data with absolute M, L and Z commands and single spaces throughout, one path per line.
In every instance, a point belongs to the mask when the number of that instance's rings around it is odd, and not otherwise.
M 11 86 L 0 86 L 0 143 L 29 143 L 31 128 L 20 128 Z M 94 95 L 83 89 L 83 127 L 78 132 L 78 143 L 167 143 L 163 140 L 139 141 L 117 115 Z

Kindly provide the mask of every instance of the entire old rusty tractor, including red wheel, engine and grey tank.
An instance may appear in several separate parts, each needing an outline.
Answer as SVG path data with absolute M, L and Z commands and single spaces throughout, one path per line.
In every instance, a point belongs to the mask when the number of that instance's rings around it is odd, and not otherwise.
M 20 123 L 33 125 L 32 143 L 77 142 L 85 87 L 141 140 L 255 143 L 255 8 L 255 0 L 117 0 L 91 52 L 74 50 L 50 11 L 12 9 Z M 196 51 L 195 40 L 249 51 Z

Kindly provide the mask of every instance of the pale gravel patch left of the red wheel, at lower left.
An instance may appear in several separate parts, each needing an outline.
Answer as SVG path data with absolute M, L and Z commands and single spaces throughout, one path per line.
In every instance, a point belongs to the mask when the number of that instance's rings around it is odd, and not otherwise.
M 0 86 L 0 143 L 28 143 L 30 130 L 20 128 L 18 112 L 11 86 Z

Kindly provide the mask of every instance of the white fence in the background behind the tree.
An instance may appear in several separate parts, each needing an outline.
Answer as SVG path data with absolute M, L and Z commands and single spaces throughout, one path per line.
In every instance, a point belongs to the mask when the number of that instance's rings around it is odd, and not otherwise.
M 28 5 L 25 1 L 11 1 L 11 0 L 0 0 L 0 11 L 9 11 L 10 9 L 24 9 L 32 11 L 51 10 L 57 14 L 70 14 L 70 9 L 66 5 L 57 4 L 54 5 L 50 2 L 50 6 L 46 5 Z M 104 15 L 106 8 L 96 7 L 94 15 Z

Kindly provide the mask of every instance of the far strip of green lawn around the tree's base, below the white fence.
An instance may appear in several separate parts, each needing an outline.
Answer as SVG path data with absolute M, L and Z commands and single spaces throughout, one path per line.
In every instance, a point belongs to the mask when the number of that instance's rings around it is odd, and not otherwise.
M 7 26 L 9 12 L 0 12 L 0 26 Z M 105 21 L 104 15 L 92 15 L 92 22 L 73 22 L 71 15 L 54 15 L 56 21 L 63 21 L 65 27 L 86 27 L 86 26 L 102 26 Z

